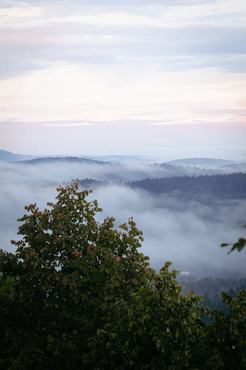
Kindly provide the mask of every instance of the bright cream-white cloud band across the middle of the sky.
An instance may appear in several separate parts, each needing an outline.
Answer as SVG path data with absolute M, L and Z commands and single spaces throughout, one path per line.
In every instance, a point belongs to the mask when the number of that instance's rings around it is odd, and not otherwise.
M 0 118 L 216 121 L 216 114 L 208 116 L 205 108 L 240 107 L 245 99 L 244 77 L 216 69 L 165 72 L 151 66 L 127 68 L 124 64 L 52 66 L 0 81 Z

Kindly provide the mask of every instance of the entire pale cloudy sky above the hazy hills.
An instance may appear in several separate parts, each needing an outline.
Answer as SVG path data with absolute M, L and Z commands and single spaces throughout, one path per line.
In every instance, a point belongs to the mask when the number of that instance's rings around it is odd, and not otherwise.
M 0 149 L 246 161 L 245 0 L 0 0 Z

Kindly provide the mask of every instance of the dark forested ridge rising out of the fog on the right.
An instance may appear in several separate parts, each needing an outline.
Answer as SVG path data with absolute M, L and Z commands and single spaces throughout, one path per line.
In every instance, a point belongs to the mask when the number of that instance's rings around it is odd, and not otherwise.
M 133 189 L 143 189 L 153 195 L 167 194 L 174 199 L 194 200 L 204 205 L 215 205 L 218 201 L 246 199 L 246 173 L 224 175 L 175 176 L 144 179 L 132 182 L 118 181 Z M 107 181 L 79 180 L 83 187 L 109 185 Z

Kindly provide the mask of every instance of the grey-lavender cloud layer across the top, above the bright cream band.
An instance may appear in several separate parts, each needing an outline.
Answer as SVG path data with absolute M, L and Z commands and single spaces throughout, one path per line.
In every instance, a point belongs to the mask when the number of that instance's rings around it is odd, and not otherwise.
M 9 14 L 0 33 L 0 52 L 8 56 L 2 69 L 8 76 L 11 63 L 14 76 L 61 61 L 245 72 L 244 1 L 234 0 L 234 6 L 231 1 L 13 4 L 1 9 Z M 13 16 L 17 18 L 10 21 Z

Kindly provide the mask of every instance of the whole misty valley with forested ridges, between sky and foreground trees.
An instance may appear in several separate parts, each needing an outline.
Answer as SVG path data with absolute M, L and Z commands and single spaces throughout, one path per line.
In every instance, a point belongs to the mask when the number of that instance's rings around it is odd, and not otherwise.
M 113 216 L 118 226 L 134 218 L 144 234 L 141 252 L 156 270 L 170 260 L 173 268 L 197 277 L 244 277 L 244 259 L 239 253 L 227 256 L 220 244 L 244 236 L 246 174 L 233 174 L 230 161 L 226 168 L 213 162 L 218 167 L 78 157 L 0 161 L 0 248 L 13 252 L 9 241 L 19 238 L 16 220 L 25 205 L 36 202 L 43 209 L 55 200 L 58 185 L 78 179 L 102 207 L 99 221 Z

